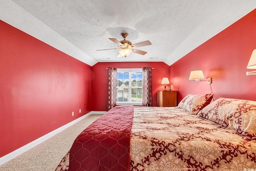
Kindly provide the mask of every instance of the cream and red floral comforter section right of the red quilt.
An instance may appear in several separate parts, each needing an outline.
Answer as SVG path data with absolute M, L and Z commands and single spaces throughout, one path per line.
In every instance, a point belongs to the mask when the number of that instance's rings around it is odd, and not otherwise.
M 131 171 L 256 170 L 256 140 L 178 107 L 134 107 Z

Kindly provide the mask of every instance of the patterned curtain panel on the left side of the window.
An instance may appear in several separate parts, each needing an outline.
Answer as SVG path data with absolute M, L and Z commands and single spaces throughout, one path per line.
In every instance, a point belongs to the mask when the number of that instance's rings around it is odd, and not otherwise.
M 108 110 L 116 106 L 116 68 L 108 68 Z

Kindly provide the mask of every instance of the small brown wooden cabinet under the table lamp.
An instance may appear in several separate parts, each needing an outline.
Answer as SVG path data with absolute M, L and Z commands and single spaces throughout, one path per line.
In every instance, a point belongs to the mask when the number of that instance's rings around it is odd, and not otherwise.
M 160 107 L 174 107 L 174 106 L 177 106 L 177 91 L 158 90 L 158 92 L 157 92 L 157 106 L 160 106 Z

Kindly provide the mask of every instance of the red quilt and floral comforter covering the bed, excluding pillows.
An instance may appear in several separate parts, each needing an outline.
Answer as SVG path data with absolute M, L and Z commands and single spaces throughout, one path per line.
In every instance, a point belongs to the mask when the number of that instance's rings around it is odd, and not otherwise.
M 122 114 L 131 108 L 133 114 Z M 115 110 L 122 112 L 113 114 Z M 117 117 L 113 125 L 115 135 L 121 139 L 125 137 L 125 141 L 120 141 L 122 144 L 102 136 L 102 132 L 113 130 L 111 115 Z M 102 120 L 104 126 L 98 125 Z M 118 120 L 121 123 L 132 120 L 130 134 L 120 133 L 119 136 Z M 256 140 L 245 139 L 235 130 L 179 107 L 118 106 L 93 124 L 76 138 L 56 171 L 237 171 L 256 168 Z M 130 126 L 128 121 L 127 125 L 120 125 Z M 124 127 L 120 127 L 121 132 Z M 88 136 L 91 131 L 95 134 Z M 92 140 L 90 137 L 97 139 L 88 142 Z M 99 145 L 104 150 L 98 149 Z

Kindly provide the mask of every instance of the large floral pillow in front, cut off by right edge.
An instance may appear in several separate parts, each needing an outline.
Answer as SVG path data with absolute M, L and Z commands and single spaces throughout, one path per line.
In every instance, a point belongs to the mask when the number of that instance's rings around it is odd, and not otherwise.
M 198 116 L 235 130 L 243 138 L 256 140 L 256 101 L 218 98 Z

